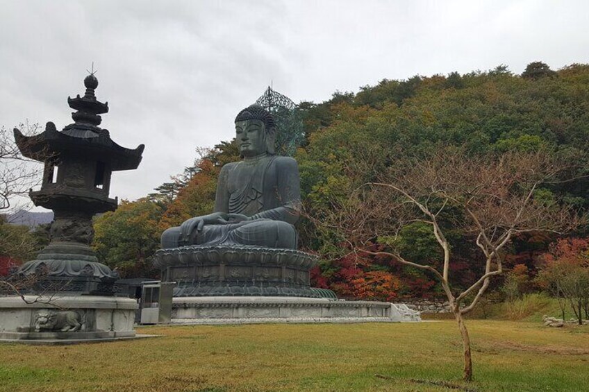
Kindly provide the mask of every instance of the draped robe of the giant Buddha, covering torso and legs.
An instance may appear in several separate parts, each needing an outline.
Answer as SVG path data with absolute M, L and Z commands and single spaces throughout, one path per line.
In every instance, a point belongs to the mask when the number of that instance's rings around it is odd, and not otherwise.
M 226 164 L 219 173 L 215 212 L 244 214 L 245 221 L 206 224 L 180 244 L 180 228 L 162 235 L 163 248 L 180 245 L 255 245 L 297 248 L 294 223 L 299 219 L 299 169 L 290 157 L 265 155 Z

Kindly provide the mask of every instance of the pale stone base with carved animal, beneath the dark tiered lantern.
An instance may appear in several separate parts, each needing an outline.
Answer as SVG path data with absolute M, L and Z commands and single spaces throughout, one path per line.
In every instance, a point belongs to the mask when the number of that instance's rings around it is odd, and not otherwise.
M 135 337 L 138 305 L 106 296 L 0 297 L 0 341 L 111 341 Z

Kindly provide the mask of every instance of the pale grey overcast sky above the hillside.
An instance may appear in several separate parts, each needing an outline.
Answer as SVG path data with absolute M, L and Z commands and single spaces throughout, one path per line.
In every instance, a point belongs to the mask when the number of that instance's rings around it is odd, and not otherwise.
M 589 62 L 588 1 L 0 0 L 0 125 L 72 123 L 94 62 L 101 127 L 145 144 L 110 196 L 134 200 L 183 171 L 197 146 L 272 82 L 320 103 L 383 78 Z

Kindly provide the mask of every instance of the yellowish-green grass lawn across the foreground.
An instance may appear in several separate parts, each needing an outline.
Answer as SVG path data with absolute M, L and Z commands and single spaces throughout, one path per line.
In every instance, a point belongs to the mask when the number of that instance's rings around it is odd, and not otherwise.
M 475 381 L 460 382 L 454 321 L 142 327 L 162 337 L 0 344 L 0 391 L 589 391 L 589 327 L 467 321 Z M 385 375 L 391 380 L 374 377 Z

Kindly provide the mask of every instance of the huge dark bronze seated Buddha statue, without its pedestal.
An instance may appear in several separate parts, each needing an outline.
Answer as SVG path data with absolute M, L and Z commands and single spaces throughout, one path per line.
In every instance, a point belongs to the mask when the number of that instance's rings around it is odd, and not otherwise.
M 297 248 L 297 161 L 274 155 L 272 114 L 251 105 L 235 118 L 235 141 L 243 160 L 222 167 L 212 214 L 188 219 L 162 235 L 162 248 L 188 245 L 251 245 Z

